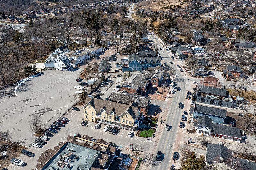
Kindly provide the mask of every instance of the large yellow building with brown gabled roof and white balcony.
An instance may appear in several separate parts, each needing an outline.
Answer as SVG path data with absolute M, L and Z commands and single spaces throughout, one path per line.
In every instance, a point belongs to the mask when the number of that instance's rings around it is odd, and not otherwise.
M 103 100 L 99 95 L 87 97 L 83 108 L 85 120 L 128 130 L 135 130 L 143 117 L 137 103 L 116 103 Z

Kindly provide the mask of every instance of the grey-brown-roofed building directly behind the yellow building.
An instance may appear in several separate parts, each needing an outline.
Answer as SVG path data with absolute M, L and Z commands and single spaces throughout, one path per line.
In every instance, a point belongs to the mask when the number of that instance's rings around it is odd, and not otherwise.
M 140 107 L 141 115 L 147 115 L 148 107 L 150 106 L 150 98 L 141 95 L 131 94 L 128 93 L 126 90 L 123 90 L 121 92 L 113 91 L 108 101 L 113 101 L 126 105 L 135 102 Z

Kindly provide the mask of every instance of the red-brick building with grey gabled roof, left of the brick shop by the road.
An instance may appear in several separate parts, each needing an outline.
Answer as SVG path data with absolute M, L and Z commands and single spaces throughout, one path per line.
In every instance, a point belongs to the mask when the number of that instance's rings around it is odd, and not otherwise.
M 149 79 L 145 75 L 137 74 L 128 77 L 124 82 L 121 83 L 121 91 L 126 90 L 131 94 L 143 94 L 149 88 Z

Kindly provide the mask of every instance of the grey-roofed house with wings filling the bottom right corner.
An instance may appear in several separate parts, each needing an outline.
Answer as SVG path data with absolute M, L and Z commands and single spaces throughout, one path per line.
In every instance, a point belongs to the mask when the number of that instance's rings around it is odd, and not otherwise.
M 235 167 L 238 170 L 253 170 L 256 167 L 256 162 L 236 157 L 232 150 L 222 145 L 222 143 L 207 145 L 205 161 L 207 165 L 213 165 L 221 169 Z

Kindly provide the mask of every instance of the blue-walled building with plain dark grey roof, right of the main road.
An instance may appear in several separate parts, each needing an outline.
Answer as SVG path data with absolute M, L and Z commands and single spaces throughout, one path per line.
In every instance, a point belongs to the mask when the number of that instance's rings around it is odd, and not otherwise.
M 193 119 L 206 115 L 212 119 L 212 123 L 223 124 L 227 115 L 227 110 L 216 107 L 209 107 L 196 104 L 193 112 Z

